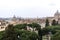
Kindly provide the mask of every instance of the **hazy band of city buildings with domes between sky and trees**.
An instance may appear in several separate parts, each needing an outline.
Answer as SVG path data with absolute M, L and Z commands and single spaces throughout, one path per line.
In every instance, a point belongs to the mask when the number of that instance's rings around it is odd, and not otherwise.
M 58 10 L 56 11 L 56 13 L 54 14 L 53 17 L 45 17 L 45 18 L 17 18 L 16 16 L 13 16 L 11 19 L 8 20 L 0 20 L 0 31 L 5 30 L 5 28 L 7 27 L 7 25 L 9 24 L 23 24 L 23 23 L 38 23 L 41 25 L 41 27 L 45 27 L 45 21 L 46 19 L 49 20 L 49 23 L 51 25 L 52 20 L 56 20 L 58 21 L 58 23 L 60 24 L 60 13 L 58 12 Z

